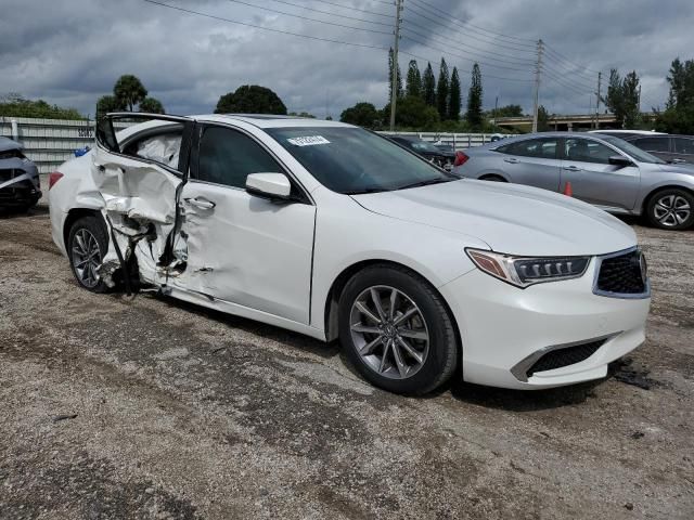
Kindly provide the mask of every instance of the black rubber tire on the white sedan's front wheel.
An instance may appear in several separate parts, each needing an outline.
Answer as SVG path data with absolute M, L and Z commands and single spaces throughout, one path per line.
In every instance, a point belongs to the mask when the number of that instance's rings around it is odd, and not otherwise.
M 428 333 L 428 344 L 424 360 L 411 376 L 389 378 L 370 366 L 365 358 L 359 353 L 352 334 L 354 306 L 360 295 L 371 287 L 383 290 L 397 289 L 403 297 L 414 303 L 424 321 L 424 328 Z M 402 298 L 402 297 L 401 297 Z M 404 298 L 403 298 L 404 299 Z M 384 299 L 386 306 L 387 301 Z M 399 312 L 399 311 L 398 311 Z M 424 278 L 408 269 L 376 264 L 365 268 L 349 280 L 339 298 L 339 340 L 344 352 L 361 376 L 376 387 L 390 392 L 422 395 L 444 385 L 458 366 L 459 346 L 449 311 L 441 296 Z M 401 313 L 398 315 L 402 315 Z M 413 328 L 413 327 L 412 327 Z M 408 339 L 408 341 L 410 341 Z M 412 340 L 417 341 L 417 340 Z M 363 347 L 363 346 L 362 346 Z M 381 352 L 385 344 L 380 343 Z M 374 350 L 377 352 L 377 350 Z M 400 350 L 400 352 L 406 352 Z M 390 360 L 395 362 L 395 353 L 390 352 Z M 399 354 L 400 356 L 402 353 Z M 401 358 L 402 359 L 402 358 Z M 414 361 L 412 358 L 411 361 Z M 393 370 L 396 366 L 390 363 Z M 396 376 L 397 377 L 397 376 Z

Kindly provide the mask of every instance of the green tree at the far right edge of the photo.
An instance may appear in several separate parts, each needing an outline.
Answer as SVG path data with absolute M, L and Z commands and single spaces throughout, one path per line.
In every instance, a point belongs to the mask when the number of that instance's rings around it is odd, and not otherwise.
M 667 77 L 670 93 L 666 110 L 656 118 L 656 129 L 670 133 L 694 133 L 694 60 L 672 61 Z

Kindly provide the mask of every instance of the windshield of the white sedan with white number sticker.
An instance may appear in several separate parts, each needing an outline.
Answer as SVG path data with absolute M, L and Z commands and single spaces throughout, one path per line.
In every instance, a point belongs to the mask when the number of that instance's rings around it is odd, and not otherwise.
M 386 192 L 457 178 L 361 128 L 269 128 L 272 135 L 327 188 L 344 194 Z

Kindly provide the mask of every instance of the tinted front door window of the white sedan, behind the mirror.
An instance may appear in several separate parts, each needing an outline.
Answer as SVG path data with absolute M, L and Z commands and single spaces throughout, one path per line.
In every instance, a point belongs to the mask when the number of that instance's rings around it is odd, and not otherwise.
M 282 168 L 253 139 L 229 128 L 204 130 L 197 162 L 201 181 L 243 188 L 248 174 L 262 172 L 282 172 Z

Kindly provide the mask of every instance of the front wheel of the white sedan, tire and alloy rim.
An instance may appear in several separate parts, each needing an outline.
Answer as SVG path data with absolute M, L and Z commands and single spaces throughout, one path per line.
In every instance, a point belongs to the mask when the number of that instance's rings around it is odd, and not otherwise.
M 458 364 L 453 321 L 425 280 L 378 264 L 357 273 L 339 299 L 345 354 L 373 385 L 424 394 L 446 382 Z

